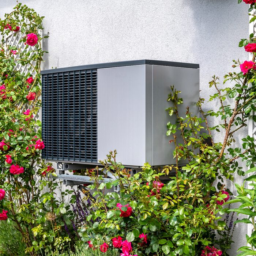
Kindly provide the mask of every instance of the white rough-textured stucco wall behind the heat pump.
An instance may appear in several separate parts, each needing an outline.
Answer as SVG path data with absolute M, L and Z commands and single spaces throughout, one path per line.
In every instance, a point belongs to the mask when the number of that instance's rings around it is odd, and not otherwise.
M 0 17 L 16 0 L 1 0 Z M 111 61 L 155 59 L 200 64 L 200 96 L 208 99 L 211 76 L 245 60 L 238 48 L 248 37 L 245 4 L 236 0 L 23 0 L 45 16 L 44 69 Z M 132 99 L 131 99 L 132 100 Z M 215 108 L 206 103 L 204 108 Z M 216 123 L 210 120 L 210 124 Z M 247 129 L 243 134 L 246 135 Z M 214 134 L 215 141 L 223 138 Z M 241 178 L 236 178 L 238 183 Z M 234 185 L 228 182 L 232 190 Z M 237 226 L 233 250 L 245 245 L 246 226 Z

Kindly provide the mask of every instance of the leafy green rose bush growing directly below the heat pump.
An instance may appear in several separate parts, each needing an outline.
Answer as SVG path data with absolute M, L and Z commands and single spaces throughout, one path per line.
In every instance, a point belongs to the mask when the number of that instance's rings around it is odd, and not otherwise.
M 131 176 L 130 170 L 116 162 L 116 152 L 110 152 L 107 157 L 101 164 L 117 180 L 99 185 L 101 177 L 91 177 L 94 184 L 89 188 L 95 190 L 94 196 L 97 196 L 92 200 L 91 209 L 96 210 L 91 211 L 80 230 L 83 241 L 111 245 L 112 238 L 121 236 L 132 242 L 133 254 L 198 255 L 204 246 L 212 245 L 214 234 L 209 235 L 210 232 L 224 229 L 225 223 L 217 216 L 222 213 L 217 200 L 222 201 L 227 195 L 216 192 L 213 186 L 201 185 L 202 173 L 195 175 L 198 162 L 193 162 L 193 170 L 178 170 L 177 176 L 162 184 L 160 177 L 165 174 L 152 169 L 148 163 L 142 172 Z M 105 191 L 106 186 L 109 189 L 116 185 L 120 186 L 120 194 Z M 120 216 L 118 203 L 124 212 L 132 207 L 130 217 Z M 139 238 L 142 233 L 147 234 L 147 244 L 142 244 Z

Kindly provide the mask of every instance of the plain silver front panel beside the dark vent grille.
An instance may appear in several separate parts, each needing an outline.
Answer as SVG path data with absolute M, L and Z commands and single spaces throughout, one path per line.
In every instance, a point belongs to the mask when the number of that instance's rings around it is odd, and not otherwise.
M 117 150 L 123 165 L 145 162 L 145 65 L 98 69 L 98 159 Z

